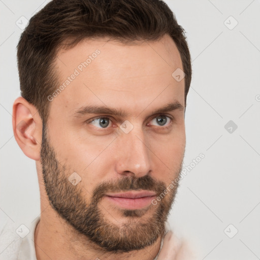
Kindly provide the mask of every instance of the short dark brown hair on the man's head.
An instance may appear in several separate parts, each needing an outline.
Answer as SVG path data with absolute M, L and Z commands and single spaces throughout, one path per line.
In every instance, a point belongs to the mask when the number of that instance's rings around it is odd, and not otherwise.
M 167 4 L 160 0 L 53 0 L 35 14 L 22 32 L 17 59 L 22 97 L 44 120 L 48 95 L 58 86 L 55 56 L 86 38 L 108 37 L 122 43 L 156 41 L 165 34 L 175 42 L 185 73 L 186 96 L 191 81 L 191 60 L 184 29 Z

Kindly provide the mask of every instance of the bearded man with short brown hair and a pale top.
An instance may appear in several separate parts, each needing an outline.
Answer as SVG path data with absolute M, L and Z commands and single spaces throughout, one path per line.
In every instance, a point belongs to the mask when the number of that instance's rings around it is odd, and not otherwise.
M 14 136 L 36 161 L 41 217 L 2 258 L 191 259 L 167 223 L 191 81 L 168 6 L 52 1 L 30 19 L 17 57 Z

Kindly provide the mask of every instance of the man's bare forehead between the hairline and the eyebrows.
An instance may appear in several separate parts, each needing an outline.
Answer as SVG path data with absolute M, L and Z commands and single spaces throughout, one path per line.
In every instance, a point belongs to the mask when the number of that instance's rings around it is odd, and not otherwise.
M 84 40 L 57 53 L 61 91 L 51 104 L 68 113 L 86 105 L 107 105 L 140 114 L 149 104 L 177 100 L 184 106 L 184 79 L 179 51 L 169 36 L 156 42 L 126 45 L 108 39 Z M 60 90 L 60 89 L 59 89 Z

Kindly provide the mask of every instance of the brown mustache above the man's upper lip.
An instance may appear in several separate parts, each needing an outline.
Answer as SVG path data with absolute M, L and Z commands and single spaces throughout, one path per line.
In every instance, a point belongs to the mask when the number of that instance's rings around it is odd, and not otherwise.
M 159 195 L 166 189 L 162 181 L 155 180 L 150 175 L 142 177 L 122 177 L 116 181 L 106 181 L 101 183 L 93 191 L 92 201 L 98 203 L 108 192 L 120 192 L 131 190 L 151 190 Z

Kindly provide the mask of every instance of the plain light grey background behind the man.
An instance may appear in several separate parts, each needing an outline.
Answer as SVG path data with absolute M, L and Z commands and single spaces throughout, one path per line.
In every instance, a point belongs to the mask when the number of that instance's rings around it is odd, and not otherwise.
M 7 221 L 29 224 L 40 214 L 35 161 L 17 145 L 11 114 L 19 95 L 16 46 L 22 29 L 16 21 L 47 2 L 0 0 L 1 227 Z M 191 170 L 169 222 L 196 245 L 201 259 L 260 259 L 260 1 L 166 3 L 186 30 L 193 69 L 184 158 Z M 205 158 L 193 166 L 200 153 Z

